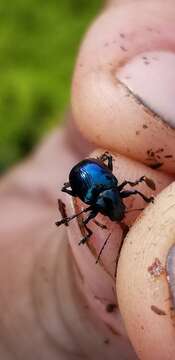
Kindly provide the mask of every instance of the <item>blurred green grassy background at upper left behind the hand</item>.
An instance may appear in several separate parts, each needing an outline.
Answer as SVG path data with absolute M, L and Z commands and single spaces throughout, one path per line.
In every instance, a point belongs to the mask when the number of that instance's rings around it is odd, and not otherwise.
M 101 0 L 0 1 L 0 172 L 61 119 L 77 50 Z

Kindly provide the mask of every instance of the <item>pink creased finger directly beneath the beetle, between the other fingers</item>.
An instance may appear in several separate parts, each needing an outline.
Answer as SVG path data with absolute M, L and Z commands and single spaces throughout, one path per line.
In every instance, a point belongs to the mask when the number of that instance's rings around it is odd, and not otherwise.
M 100 152 L 92 154 L 92 157 L 100 155 Z M 147 196 L 156 195 L 161 189 L 167 186 L 172 178 L 158 174 L 157 171 L 149 169 L 148 167 L 138 164 L 137 162 L 127 159 L 121 155 L 113 154 L 113 173 L 117 177 L 119 184 L 127 179 L 134 181 L 145 175 L 151 179 L 156 186 L 156 191 L 150 189 L 146 184 L 140 184 L 136 188 Z M 125 200 L 128 208 L 138 209 L 145 207 L 145 203 L 139 196 L 130 197 Z M 68 214 L 78 213 L 84 208 L 84 204 L 77 200 L 71 202 L 67 206 Z M 124 219 L 126 225 L 131 225 L 140 211 L 128 213 Z M 114 330 L 120 334 L 124 334 L 124 329 L 121 325 L 121 320 L 107 316 L 106 306 L 110 303 L 116 303 L 115 298 L 115 268 L 116 257 L 123 237 L 123 228 L 119 224 L 112 225 L 106 217 L 98 217 L 102 224 L 107 225 L 107 230 L 101 229 L 91 221 L 89 227 L 93 231 L 93 236 L 85 245 L 78 246 L 80 239 L 84 236 L 84 228 L 82 226 L 82 217 L 72 221 L 68 227 L 69 240 L 71 243 L 73 256 L 77 263 L 79 273 L 83 282 L 83 288 L 86 296 L 91 302 L 91 306 L 103 321 L 105 320 L 109 326 L 113 326 Z M 105 239 L 111 233 L 111 237 L 104 248 L 100 261 L 96 264 L 97 256 L 104 244 Z M 124 234 L 125 235 L 125 234 Z

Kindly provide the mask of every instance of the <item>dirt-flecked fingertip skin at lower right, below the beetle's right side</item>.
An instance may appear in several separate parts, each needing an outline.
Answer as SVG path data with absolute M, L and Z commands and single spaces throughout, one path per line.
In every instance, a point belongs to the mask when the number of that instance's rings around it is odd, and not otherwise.
M 166 274 L 174 221 L 173 183 L 134 224 L 119 260 L 119 306 L 131 342 L 143 360 L 174 358 L 174 306 Z

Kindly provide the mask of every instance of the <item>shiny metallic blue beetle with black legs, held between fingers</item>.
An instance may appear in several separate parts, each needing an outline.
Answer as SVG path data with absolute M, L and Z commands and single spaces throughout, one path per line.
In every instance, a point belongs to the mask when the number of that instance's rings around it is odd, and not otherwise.
M 107 161 L 107 164 L 105 164 Z M 84 244 L 92 235 L 91 229 L 87 227 L 88 222 L 95 218 L 98 213 L 107 216 L 110 220 L 120 223 L 126 212 L 123 199 L 131 195 L 140 195 L 145 202 L 153 202 L 153 197 L 147 197 L 138 190 L 123 190 L 126 185 L 135 186 L 145 182 L 152 190 L 155 184 L 146 176 L 141 176 L 136 181 L 123 181 L 118 184 L 117 178 L 113 174 L 113 158 L 108 152 L 99 158 L 85 159 L 75 165 L 69 174 L 69 182 L 65 183 L 62 191 L 81 199 L 89 205 L 83 211 L 71 217 L 64 217 L 57 221 L 56 225 L 68 225 L 69 221 L 78 217 L 82 213 L 89 212 L 83 225 L 87 234 L 80 240 L 79 244 Z M 63 213 L 63 215 L 65 212 Z

